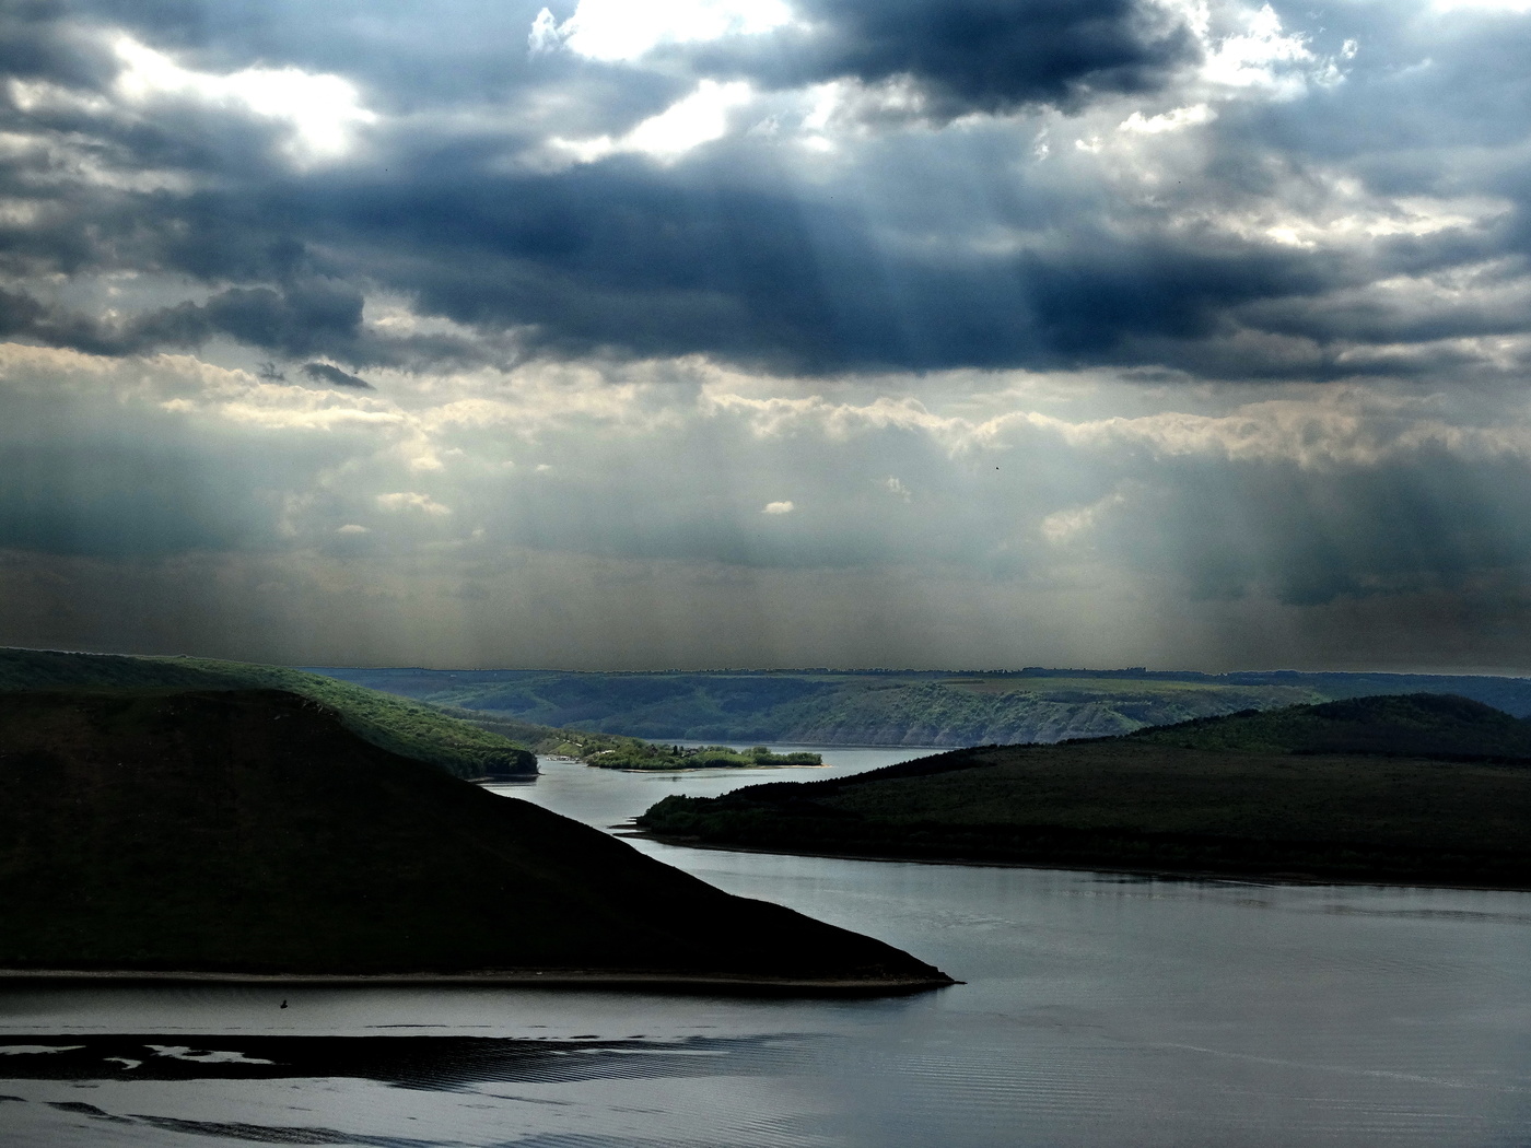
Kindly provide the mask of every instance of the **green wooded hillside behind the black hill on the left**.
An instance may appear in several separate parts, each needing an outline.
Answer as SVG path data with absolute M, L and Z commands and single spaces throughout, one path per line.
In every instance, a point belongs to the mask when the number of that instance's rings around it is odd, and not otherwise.
M 57 687 L 279 689 L 318 701 L 374 745 L 459 778 L 537 771 L 524 745 L 432 706 L 282 666 L 0 647 L 0 692 Z

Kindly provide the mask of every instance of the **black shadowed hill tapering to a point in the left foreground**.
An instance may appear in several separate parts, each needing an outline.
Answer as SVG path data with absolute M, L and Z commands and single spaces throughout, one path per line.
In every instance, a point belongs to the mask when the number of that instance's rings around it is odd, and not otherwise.
M 0 695 L 0 921 L 11 970 L 948 983 L 274 690 Z

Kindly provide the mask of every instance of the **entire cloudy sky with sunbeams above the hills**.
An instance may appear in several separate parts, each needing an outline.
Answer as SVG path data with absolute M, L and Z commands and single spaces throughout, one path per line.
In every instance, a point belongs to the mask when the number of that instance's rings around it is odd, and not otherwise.
M 0 644 L 1531 672 L 1531 0 L 11 0 Z

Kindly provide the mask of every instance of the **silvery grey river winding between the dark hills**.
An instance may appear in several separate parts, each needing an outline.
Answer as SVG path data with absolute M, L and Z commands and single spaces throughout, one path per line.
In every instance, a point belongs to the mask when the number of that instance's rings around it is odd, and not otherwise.
M 545 761 L 501 791 L 611 830 L 668 793 L 912 756 L 822 752 L 831 768 L 744 776 Z M 12 987 L 0 1142 L 1531 1143 L 1531 894 L 634 845 L 966 984 L 873 1001 Z

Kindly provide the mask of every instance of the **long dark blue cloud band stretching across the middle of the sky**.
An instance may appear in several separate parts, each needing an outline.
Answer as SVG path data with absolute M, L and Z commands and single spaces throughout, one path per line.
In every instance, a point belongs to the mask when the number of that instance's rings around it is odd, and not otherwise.
M 871 242 L 853 208 L 677 187 L 637 161 L 553 176 L 453 170 L 233 207 L 242 242 L 211 242 L 220 214 L 199 204 L 175 213 L 165 257 L 207 279 L 253 274 L 277 228 L 297 228 L 331 240 L 335 277 L 230 289 L 145 318 L 144 340 L 191 344 L 219 331 L 288 355 L 386 361 L 364 344 L 344 260 L 427 312 L 485 329 L 531 325 L 528 344 L 557 354 L 710 351 L 792 370 L 1044 366 L 1128 360 L 1144 338 L 1214 334 L 1240 303 L 1311 297 L 1366 274 L 1337 256 L 1239 242 L 1125 248 L 1092 228 L 1064 251 L 1007 260 L 900 257 Z

